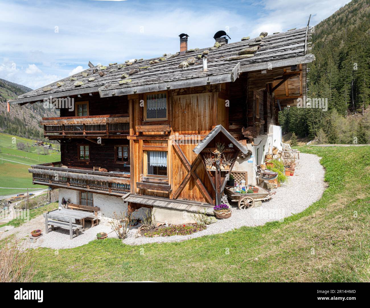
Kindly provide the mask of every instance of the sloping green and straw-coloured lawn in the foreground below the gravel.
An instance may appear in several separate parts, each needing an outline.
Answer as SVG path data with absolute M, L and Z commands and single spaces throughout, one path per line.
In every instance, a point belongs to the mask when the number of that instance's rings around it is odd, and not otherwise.
M 329 184 L 302 213 L 181 243 L 39 248 L 34 281 L 369 281 L 370 147 L 300 150 Z

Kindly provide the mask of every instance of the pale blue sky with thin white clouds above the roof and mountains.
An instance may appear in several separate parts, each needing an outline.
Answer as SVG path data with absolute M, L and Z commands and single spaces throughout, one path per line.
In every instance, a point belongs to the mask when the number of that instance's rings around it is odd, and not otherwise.
M 314 26 L 348 0 L 0 0 L 0 78 L 36 89 L 88 68 Z

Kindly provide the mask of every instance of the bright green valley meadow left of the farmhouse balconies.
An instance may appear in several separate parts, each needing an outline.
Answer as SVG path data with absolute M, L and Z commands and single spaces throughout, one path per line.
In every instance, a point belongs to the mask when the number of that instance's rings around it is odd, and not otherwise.
M 32 185 L 32 175 L 28 173 L 28 168 L 30 165 L 60 161 L 60 152 L 52 150 L 44 155 L 44 150 L 40 147 L 31 147 L 34 142 L 35 140 L 0 133 L 0 187 L 17 188 L 0 188 L 0 196 L 24 192 L 19 188 L 45 188 L 42 185 Z M 27 152 L 19 150 L 17 143 L 28 143 L 30 147 Z M 55 146 L 57 145 L 53 145 Z

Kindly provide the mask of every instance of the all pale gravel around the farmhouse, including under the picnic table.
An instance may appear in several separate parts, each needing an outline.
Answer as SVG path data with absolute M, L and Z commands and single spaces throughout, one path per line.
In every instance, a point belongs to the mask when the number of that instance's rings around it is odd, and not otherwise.
M 320 199 L 326 187 L 324 182 L 324 168 L 320 165 L 320 158 L 312 154 L 300 154 L 300 165 L 296 166 L 295 175 L 289 177 L 287 183 L 276 189 L 277 193 L 271 200 L 263 202 L 262 206 L 253 209 L 239 210 L 232 208 L 232 216 L 228 219 L 218 220 L 216 223 L 207 226 L 206 230 L 193 233 L 189 236 L 170 237 L 136 237 L 137 227 L 134 227 L 123 243 L 129 245 L 140 245 L 146 243 L 178 242 L 190 238 L 205 235 L 224 233 L 242 226 L 261 226 L 268 221 L 282 220 L 292 214 L 300 213 L 313 202 Z M 275 189 L 274 189 L 275 190 Z M 87 227 L 88 227 L 87 223 Z M 87 244 L 96 238 L 98 232 L 107 232 L 108 238 L 117 237 L 112 231 L 108 219 L 103 218 L 98 226 L 87 229 L 78 237 L 70 240 L 69 230 L 58 229 L 44 234 L 44 217 L 38 216 L 20 227 L 7 231 L 0 238 L 15 234 L 18 238 L 27 238 L 30 232 L 40 228 L 43 236 L 38 238 L 36 243 L 30 243 L 29 247 L 48 247 L 53 249 L 73 248 Z M 28 246 L 28 244 L 27 244 Z

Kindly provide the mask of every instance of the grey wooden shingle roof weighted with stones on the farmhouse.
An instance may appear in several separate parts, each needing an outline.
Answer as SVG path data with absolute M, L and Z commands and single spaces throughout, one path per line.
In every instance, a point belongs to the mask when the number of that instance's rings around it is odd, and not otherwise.
M 67 97 L 99 92 L 101 97 L 145 93 L 162 89 L 232 82 L 241 72 L 312 62 L 307 54 L 307 28 L 250 38 L 218 48 L 189 49 L 185 55 L 164 55 L 148 60 L 111 64 L 87 70 L 58 82 L 20 95 L 11 104 L 42 101 L 44 98 Z M 249 55 L 240 55 L 245 48 L 257 47 Z M 201 55 L 207 53 L 208 71 L 203 72 Z M 186 69 L 179 64 L 194 57 Z M 190 61 L 190 62 L 194 62 Z M 123 75 L 123 76 L 122 76 Z

